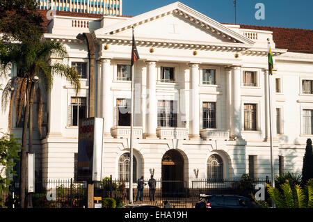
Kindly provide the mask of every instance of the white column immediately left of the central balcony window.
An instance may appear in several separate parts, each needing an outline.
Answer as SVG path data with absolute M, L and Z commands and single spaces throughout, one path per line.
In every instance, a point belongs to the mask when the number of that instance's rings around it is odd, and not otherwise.
M 145 110 L 145 138 L 156 138 L 157 129 L 157 63 L 147 62 L 147 88 L 146 88 L 146 110 Z

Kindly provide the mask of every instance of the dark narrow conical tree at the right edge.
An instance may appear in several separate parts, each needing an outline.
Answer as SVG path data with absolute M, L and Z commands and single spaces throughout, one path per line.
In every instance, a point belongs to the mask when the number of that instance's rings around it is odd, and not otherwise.
M 307 139 L 307 146 L 305 148 L 305 156 L 303 157 L 302 168 L 302 183 L 305 184 L 307 180 L 313 178 L 313 151 L 312 140 Z

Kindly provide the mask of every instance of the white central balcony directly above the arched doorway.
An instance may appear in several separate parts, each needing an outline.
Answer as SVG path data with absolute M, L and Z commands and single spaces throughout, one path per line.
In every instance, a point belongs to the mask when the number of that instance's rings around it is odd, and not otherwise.
M 157 137 L 161 139 L 188 139 L 188 129 L 177 127 L 160 127 L 157 128 Z

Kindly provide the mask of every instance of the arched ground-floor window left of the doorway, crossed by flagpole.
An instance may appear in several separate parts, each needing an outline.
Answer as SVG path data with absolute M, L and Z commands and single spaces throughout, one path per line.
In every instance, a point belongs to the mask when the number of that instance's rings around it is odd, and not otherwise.
M 129 152 L 122 154 L 120 159 L 118 160 L 118 179 L 129 181 L 129 166 L 130 166 L 130 154 Z M 137 160 L 133 156 L 133 178 L 134 182 L 136 182 L 137 178 Z

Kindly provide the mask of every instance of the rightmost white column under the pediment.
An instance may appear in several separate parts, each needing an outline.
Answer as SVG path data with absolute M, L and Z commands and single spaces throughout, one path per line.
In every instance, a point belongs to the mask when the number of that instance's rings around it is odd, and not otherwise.
M 232 109 L 230 135 L 241 138 L 241 66 L 232 66 Z

